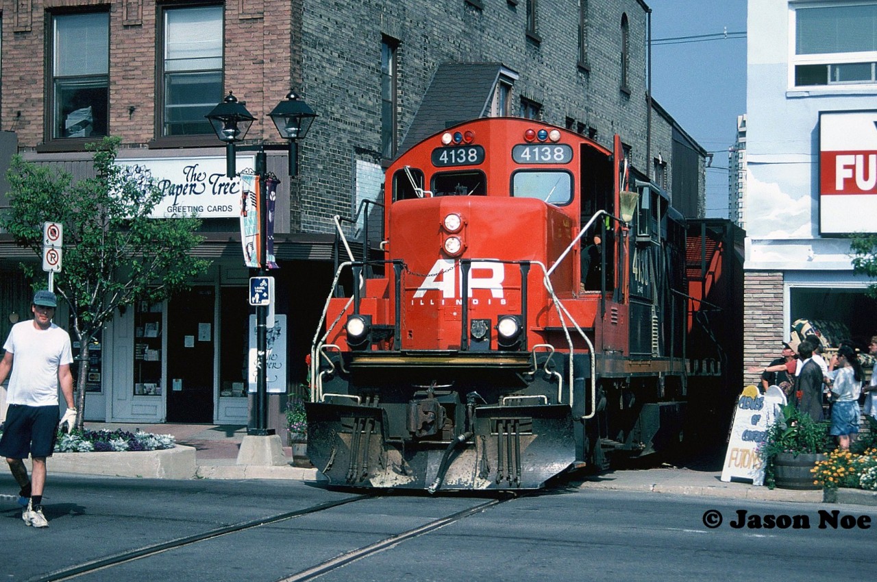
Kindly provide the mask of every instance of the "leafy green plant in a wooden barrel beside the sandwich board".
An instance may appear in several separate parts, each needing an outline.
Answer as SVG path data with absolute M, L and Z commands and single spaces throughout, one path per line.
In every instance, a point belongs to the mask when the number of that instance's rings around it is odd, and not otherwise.
M 827 420 L 817 422 L 809 414 L 799 413 L 795 405 L 783 406 L 759 447 L 766 485 L 771 489 L 819 489 L 812 470 L 833 447 L 829 427 Z

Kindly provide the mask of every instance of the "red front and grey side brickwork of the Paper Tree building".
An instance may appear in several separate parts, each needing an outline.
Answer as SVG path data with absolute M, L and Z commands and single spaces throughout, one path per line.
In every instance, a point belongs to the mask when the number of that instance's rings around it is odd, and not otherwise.
M 168 0 L 160 5 L 184 5 Z M 160 12 L 149 0 L 2 0 L 3 87 L 0 124 L 18 133 L 22 150 L 45 139 L 46 23 L 53 11 L 86 6 L 110 11 L 110 132 L 123 147 L 148 147 L 155 137 L 156 58 Z M 282 143 L 267 119 L 292 86 L 319 118 L 300 143 L 301 176 L 292 183 L 291 232 L 332 232 L 332 216 L 353 215 L 356 162 L 375 162 L 381 144 L 381 38 L 398 41 L 400 141 L 439 63 L 501 62 L 520 78 L 513 90 L 542 105 L 542 119 L 571 119 L 596 130 L 611 147 L 622 135 L 634 165 L 645 159 L 646 13 L 638 0 L 588 3 L 588 67 L 578 66 L 577 0 L 538 3 L 538 35 L 525 34 L 525 4 L 484 0 L 227 0 L 225 91 L 256 120 L 247 138 Z M 621 86 L 621 20 L 630 26 L 628 87 Z M 449 96 L 453 99 L 453 96 Z M 654 116 L 652 116 L 654 118 Z M 667 141 L 661 145 L 660 141 Z M 217 147 L 206 138 L 203 146 Z M 652 154 L 670 151 L 663 132 Z M 672 172 L 672 162 L 670 171 Z

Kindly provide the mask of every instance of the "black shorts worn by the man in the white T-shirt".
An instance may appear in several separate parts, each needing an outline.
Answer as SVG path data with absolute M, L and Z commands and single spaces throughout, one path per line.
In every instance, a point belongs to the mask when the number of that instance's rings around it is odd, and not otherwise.
M 0 456 L 10 459 L 26 459 L 28 454 L 52 456 L 58 438 L 58 414 L 58 405 L 9 405 L 0 438 Z

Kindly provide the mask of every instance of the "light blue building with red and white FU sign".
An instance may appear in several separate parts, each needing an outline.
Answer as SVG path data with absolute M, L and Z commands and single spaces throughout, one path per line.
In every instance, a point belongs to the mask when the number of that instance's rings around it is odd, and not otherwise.
M 848 235 L 877 232 L 877 2 L 748 9 L 745 363 L 802 319 L 866 349 L 877 305 Z

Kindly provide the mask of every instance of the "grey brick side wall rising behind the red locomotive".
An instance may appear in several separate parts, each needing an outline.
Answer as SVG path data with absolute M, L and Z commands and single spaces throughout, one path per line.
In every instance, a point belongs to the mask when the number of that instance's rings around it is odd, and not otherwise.
M 321 118 L 303 143 L 303 160 L 312 163 L 301 181 L 304 231 L 325 231 L 334 214 L 351 216 L 355 162 L 369 159 L 367 152 L 357 151 L 380 149 L 382 37 L 399 43 L 400 140 L 439 63 L 501 62 L 520 75 L 513 89 L 516 113 L 519 98 L 526 97 L 542 105 L 542 119 L 549 123 L 564 126 L 569 118 L 595 127 L 605 146 L 620 133 L 633 147 L 635 164 L 646 168 L 642 5 L 636 0 L 588 3 L 585 70 L 577 66 L 576 0 L 538 3 L 539 42 L 525 35 L 523 2 L 482 4 L 479 9 L 464 0 L 371 0 L 346 4 L 343 11 L 334 2 L 309 4 L 302 71 L 306 97 Z M 620 90 L 622 13 L 631 30 L 630 95 Z

